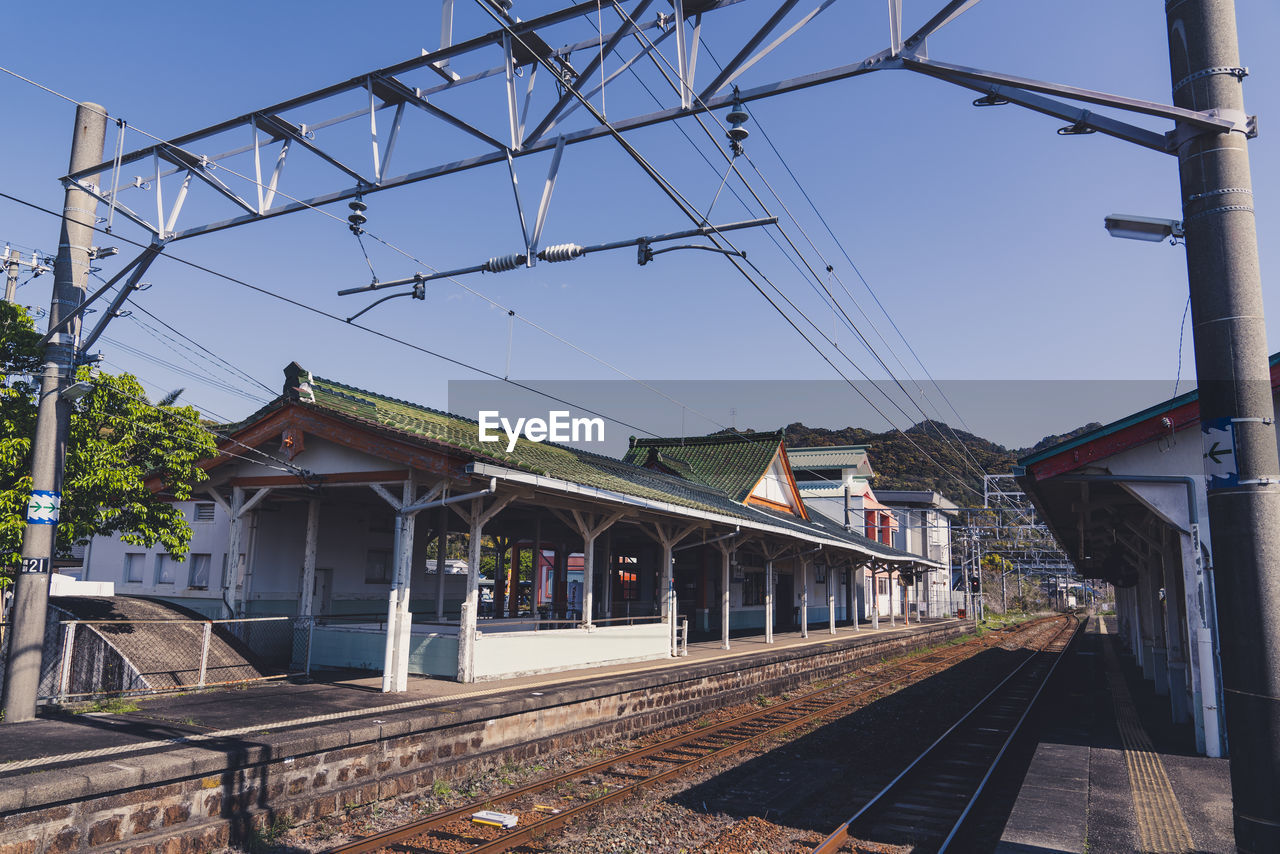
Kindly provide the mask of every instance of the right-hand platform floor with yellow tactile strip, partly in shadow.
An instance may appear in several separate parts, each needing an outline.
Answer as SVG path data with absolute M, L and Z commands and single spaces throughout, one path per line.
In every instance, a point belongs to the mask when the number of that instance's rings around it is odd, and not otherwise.
M 1089 618 L 1042 698 L 997 854 L 1235 850 L 1228 761 L 1196 753 L 1115 632 L 1115 617 Z

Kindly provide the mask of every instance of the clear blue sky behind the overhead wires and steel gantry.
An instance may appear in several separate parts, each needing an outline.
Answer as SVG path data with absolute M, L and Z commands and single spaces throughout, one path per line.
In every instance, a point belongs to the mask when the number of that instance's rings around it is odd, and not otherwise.
M 908 31 L 941 5 L 942 0 L 908 0 Z M 513 12 L 532 18 L 552 8 L 516 0 Z M 1262 129 L 1251 142 L 1251 155 L 1275 329 L 1280 307 L 1271 273 L 1280 262 L 1275 248 L 1280 241 L 1274 239 L 1280 229 L 1275 202 L 1280 149 L 1271 131 L 1280 117 L 1280 54 L 1274 44 L 1280 6 L 1274 0 L 1239 0 L 1236 8 L 1242 61 L 1251 68 L 1245 104 L 1260 115 Z M 754 27 L 771 9 L 760 0 L 746 0 L 709 15 L 703 35 L 710 52 L 726 60 L 733 36 Z M 471 0 L 458 0 L 456 22 L 460 38 L 493 28 Z M 879 1 L 837 4 L 819 22 L 751 69 L 742 87 L 858 60 L 887 40 Z M 110 8 L 28 3 L 6 9 L 5 27 L 0 65 L 74 99 L 100 102 L 131 127 L 172 137 L 415 56 L 438 44 L 439 8 L 396 1 L 369 8 L 351 3 L 129 3 Z M 575 38 L 589 32 L 582 22 Z M 960 64 L 1170 100 L 1158 3 L 986 0 L 934 36 L 929 47 L 932 56 Z M 673 58 L 673 40 L 667 52 Z M 497 52 L 490 59 L 485 65 L 498 64 Z M 585 61 L 584 55 L 576 64 Z M 709 79 L 709 69 L 704 54 L 701 79 Z M 672 95 L 658 88 L 660 79 L 652 65 L 644 74 L 664 105 L 671 105 Z M 489 92 L 497 95 L 492 102 L 458 109 L 500 137 L 504 104 L 497 90 Z M 1057 136 L 1060 120 L 1015 106 L 975 109 L 973 97 L 966 90 L 908 72 L 883 72 L 760 101 L 751 108 L 755 120 L 748 125 L 746 146 L 763 179 L 745 161 L 740 164 L 758 192 L 767 195 L 767 179 L 782 196 L 799 219 L 799 225 L 785 222 L 787 233 L 820 269 L 801 227 L 813 237 L 835 274 L 906 362 L 905 369 L 899 366 L 873 324 L 849 306 L 904 380 L 922 378 L 923 371 L 809 210 L 762 128 L 938 380 L 1135 379 L 1162 380 L 1162 385 L 1167 380 L 1172 391 L 1187 301 L 1183 250 L 1108 238 L 1102 219 L 1110 213 L 1179 216 L 1175 160 L 1102 134 Z M 73 106 L 9 76 L 0 76 L 0 102 L 8 129 L 0 138 L 0 189 L 60 209 L 58 178 L 65 172 Z M 605 106 L 611 117 L 653 109 L 627 77 L 605 91 Z M 686 119 L 682 127 L 703 151 L 710 151 L 712 143 L 696 124 Z M 1151 127 L 1165 131 L 1169 124 Z M 415 157 L 430 157 L 408 147 L 410 138 L 397 151 L 401 168 Z M 434 145 L 422 134 L 412 140 L 417 146 Z M 699 206 L 710 204 L 721 174 L 675 124 L 637 132 L 631 140 Z M 136 133 L 127 137 L 129 149 L 145 143 Z M 113 145 L 114 133 L 109 134 Z M 535 206 L 545 157 L 517 163 L 526 204 Z M 306 191 L 305 182 L 289 184 L 293 173 L 287 170 L 285 177 L 287 192 Z M 736 178 L 730 187 L 748 197 Z M 774 213 L 783 214 L 781 205 L 768 201 Z M 503 168 L 375 193 L 367 202 L 372 233 L 439 269 L 467 266 L 518 247 Z M 192 202 L 192 210 L 197 204 Z M 347 214 L 344 205 L 330 210 Z M 712 219 L 745 215 L 726 188 Z M 685 227 L 687 220 L 618 146 L 600 140 L 566 152 L 544 243 L 593 243 Z M 119 220 L 116 232 L 145 239 L 140 229 Z M 832 311 L 822 307 L 767 234 L 739 234 L 735 241 L 751 260 L 836 337 L 854 361 L 873 378 L 884 376 L 852 334 L 838 329 Z M 54 219 L 0 200 L 0 242 L 52 252 L 56 237 Z M 383 246 L 370 246 L 383 279 L 422 269 Z M 343 316 L 364 305 L 362 297 L 335 296 L 339 288 L 367 282 L 369 269 L 355 238 L 320 214 L 300 213 L 180 241 L 170 251 Z M 113 273 L 127 255 L 105 262 L 102 273 Z M 333 379 L 439 407 L 447 406 L 448 380 L 475 378 L 169 260 L 157 261 L 147 279 L 152 288 L 137 297 L 143 307 L 271 389 L 279 388 L 280 369 L 293 360 Z M 50 282 L 46 275 L 24 286 L 20 301 L 47 306 Z M 838 379 L 724 259 L 709 252 L 673 252 L 640 268 L 634 252 L 618 251 L 463 282 L 634 376 Z M 832 288 L 840 293 L 836 283 Z M 227 380 L 188 352 L 187 344 L 166 342 L 164 334 L 172 333 L 137 323 L 140 314 L 115 320 L 106 333 L 111 341 L 102 342 L 101 351 L 109 367 L 137 373 L 156 394 L 184 387 L 186 399 L 214 417 L 238 419 L 255 408 L 244 397 L 156 365 L 160 360 Z M 365 320 L 461 361 L 507 371 L 506 312 L 454 284 L 433 283 L 425 303 L 398 300 Z M 838 355 L 832 357 L 856 376 Z M 1194 375 L 1189 330 L 1181 371 L 1184 383 Z M 515 326 L 511 375 L 535 384 L 539 379 L 620 378 L 522 323 Z M 253 392 L 252 385 L 236 384 Z M 1010 389 L 1015 388 L 1025 385 L 1011 383 Z M 925 411 L 956 423 L 937 393 L 927 391 L 931 397 L 920 401 Z M 253 393 L 268 397 L 261 388 Z M 1044 433 L 1117 417 L 1158 399 L 1139 397 L 1134 396 L 1132 406 L 1114 399 L 1100 401 L 1097 407 L 1083 403 L 1074 415 L 1055 414 L 1043 424 L 1004 431 L 1000 423 L 983 420 L 975 411 L 988 403 L 955 403 L 979 433 L 1025 444 Z M 893 424 L 908 426 L 905 415 L 881 405 Z M 906 408 L 914 411 L 910 405 Z M 728 412 L 713 415 L 724 423 L 730 419 Z M 823 417 L 833 428 L 846 423 L 876 430 L 887 426 L 852 406 L 847 421 L 840 415 Z M 804 414 L 778 412 L 773 423 L 750 426 L 772 428 L 797 419 Z M 748 426 L 741 419 L 737 425 Z

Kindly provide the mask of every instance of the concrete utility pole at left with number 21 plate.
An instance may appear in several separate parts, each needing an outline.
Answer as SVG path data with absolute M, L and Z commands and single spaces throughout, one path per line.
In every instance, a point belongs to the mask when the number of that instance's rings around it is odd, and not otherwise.
M 70 172 L 87 169 L 102 159 L 106 110 L 96 104 L 76 108 Z M 63 202 L 63 229 L 54 261 L 54 296 L 49 328 L 84 300 L 88 284 L 90 250 L 97 201 L 90 193 L 68 187 Z M 79 319 L 55 334 L 45 347 L 44 376 L 36 411 L 36 437 L 31 449 L 31 502 L 22 538 L 22 566 L 14 584 L 13 631 L 9 632 L 9 670 L 4 681 L 6 723 L 36 717 L 41 653 L 45 644 L 45 611 L 49 604 L 49 572 L 61 503 L 63 461 L 70 431 L 70 402 L 63 398 L 76 369 Z

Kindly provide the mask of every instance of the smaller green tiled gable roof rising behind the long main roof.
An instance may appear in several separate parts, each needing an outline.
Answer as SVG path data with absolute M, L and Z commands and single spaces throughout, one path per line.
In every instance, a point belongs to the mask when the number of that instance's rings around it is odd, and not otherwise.
M 684 439 L 632 439 L 625 461 L 644 467 L 660 465 L 686 480 L 712 487 L 737 502 L 760 483 L 769 469 L 782 431 L 717 433 Z

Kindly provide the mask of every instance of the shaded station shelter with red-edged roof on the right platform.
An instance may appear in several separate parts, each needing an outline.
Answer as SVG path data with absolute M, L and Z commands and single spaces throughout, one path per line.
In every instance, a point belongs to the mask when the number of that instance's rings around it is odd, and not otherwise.
M 1280 355 L 1271 357 L 1272 405 Z M 1116 613 L 1143 676 L 1225 755 L 1206 458 L 1230 426 L 1202 431 L 1196 391 L 1019 461 L 1019 483 L 1085 579 L 1116 588 Z M 1215 438 L 1220 437 L 1220 438 Z M 1229 455 L 1216 455 L 1229 472 Z

